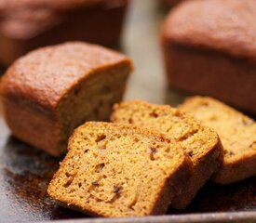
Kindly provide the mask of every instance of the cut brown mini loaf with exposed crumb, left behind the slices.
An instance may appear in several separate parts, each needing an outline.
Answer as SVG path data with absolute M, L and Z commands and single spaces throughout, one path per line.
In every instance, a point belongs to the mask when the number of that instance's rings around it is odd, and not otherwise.
M 1 80 L 7 125 L 16 138 L 61 155 L 77 125 L 109 119 L 131 70 L 126 56 L 101 46 L 71 42 L 35 50 Z

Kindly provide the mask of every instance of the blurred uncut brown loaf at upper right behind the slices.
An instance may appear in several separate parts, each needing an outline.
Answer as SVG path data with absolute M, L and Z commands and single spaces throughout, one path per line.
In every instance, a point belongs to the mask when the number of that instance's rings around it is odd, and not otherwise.
M 256 113 L 256 1 L 184 1 L 161 39 L 172 87 Z

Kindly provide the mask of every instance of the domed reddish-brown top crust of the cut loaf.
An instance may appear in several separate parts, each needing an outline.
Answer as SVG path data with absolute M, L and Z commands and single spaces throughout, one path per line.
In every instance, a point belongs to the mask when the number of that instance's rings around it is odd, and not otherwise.
M 54 112 L 75 85 L 94 73 L 118 66 L 132 69 L 125 55 L 102 46 L 82 42 L 47 46 L 18 59 L 7 70 L 1 81 L 1 95 Z

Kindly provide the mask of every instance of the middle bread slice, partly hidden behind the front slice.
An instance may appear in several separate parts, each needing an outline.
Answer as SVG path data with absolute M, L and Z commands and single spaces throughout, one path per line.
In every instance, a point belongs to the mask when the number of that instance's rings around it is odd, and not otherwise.
M 182 209 L 195 197 L 220 164 L 222 143 L 215 131 L 199 124 L 189 114 L 168 105 L 153 105 L 132 100 L 116 104 L 111 117 L 115 123 L 129 123 L 153 128 L 178 142 L 194 164 L 191 180 L 183 182 L 186 190 L 176 196 L 171 206 Z

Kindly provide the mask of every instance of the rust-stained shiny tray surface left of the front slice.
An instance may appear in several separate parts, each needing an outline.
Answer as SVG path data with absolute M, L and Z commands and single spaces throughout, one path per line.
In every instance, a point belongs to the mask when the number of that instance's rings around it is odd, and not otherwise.
M 0 149 L 0 222 L 85 217 L 47 196 L 47 185 L 60 160 L 16 138 L 7 138 Z

